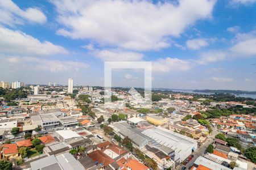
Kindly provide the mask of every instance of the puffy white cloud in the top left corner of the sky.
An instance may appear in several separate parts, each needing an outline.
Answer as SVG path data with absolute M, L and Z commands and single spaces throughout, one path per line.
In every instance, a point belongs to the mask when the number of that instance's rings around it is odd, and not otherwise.
M 24 20 L 29 22 L 43 24 L 46 23 L 46 15 L 38 8 L 20 9 L 13 1 L 0 1 L 0 24 L 14 26 L 15 24 L 24 24 Z

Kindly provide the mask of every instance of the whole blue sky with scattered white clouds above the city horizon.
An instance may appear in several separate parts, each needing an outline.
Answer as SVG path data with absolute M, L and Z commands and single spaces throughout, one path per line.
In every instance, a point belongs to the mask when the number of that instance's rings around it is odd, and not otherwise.
M 256 0 L 0 2 L 0 80 L 103 86 L 105 61 L 152 86 L 255 90 Z M 115 70 L 113 86 L 143 86 Z

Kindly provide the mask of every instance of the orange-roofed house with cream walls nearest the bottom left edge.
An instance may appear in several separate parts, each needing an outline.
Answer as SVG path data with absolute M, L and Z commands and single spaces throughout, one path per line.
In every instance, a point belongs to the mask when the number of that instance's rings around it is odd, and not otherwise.
M 3 160 L 19 158 L 18 147 L 15 143 L 3 145 Z

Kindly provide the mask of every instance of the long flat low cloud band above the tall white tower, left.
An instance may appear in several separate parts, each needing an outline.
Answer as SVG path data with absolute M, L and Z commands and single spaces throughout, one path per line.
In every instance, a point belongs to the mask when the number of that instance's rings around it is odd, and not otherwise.
M 81 68 L 87 68 L 89 65 L 76 61 L 60 61 L 57 59 L 41 59 L 35 57 L 5 57 L 6 61 L 14 64 L 16 67 L 27 66 L 33 69 L 47 70 L 52 73 L 65 71 L 78 71 Z

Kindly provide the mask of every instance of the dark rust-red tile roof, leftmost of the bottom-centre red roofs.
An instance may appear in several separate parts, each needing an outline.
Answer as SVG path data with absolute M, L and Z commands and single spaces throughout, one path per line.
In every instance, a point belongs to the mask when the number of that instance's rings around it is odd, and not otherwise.
M 104 154 L 101 150 L 94 151 L 88 156 L 94 161 L 98 162 L 99 164 L 103 164 L 104 166 L 107 166 L 113 162 L 115 162 L 114 159 L 110 158 L 108 155 Z

